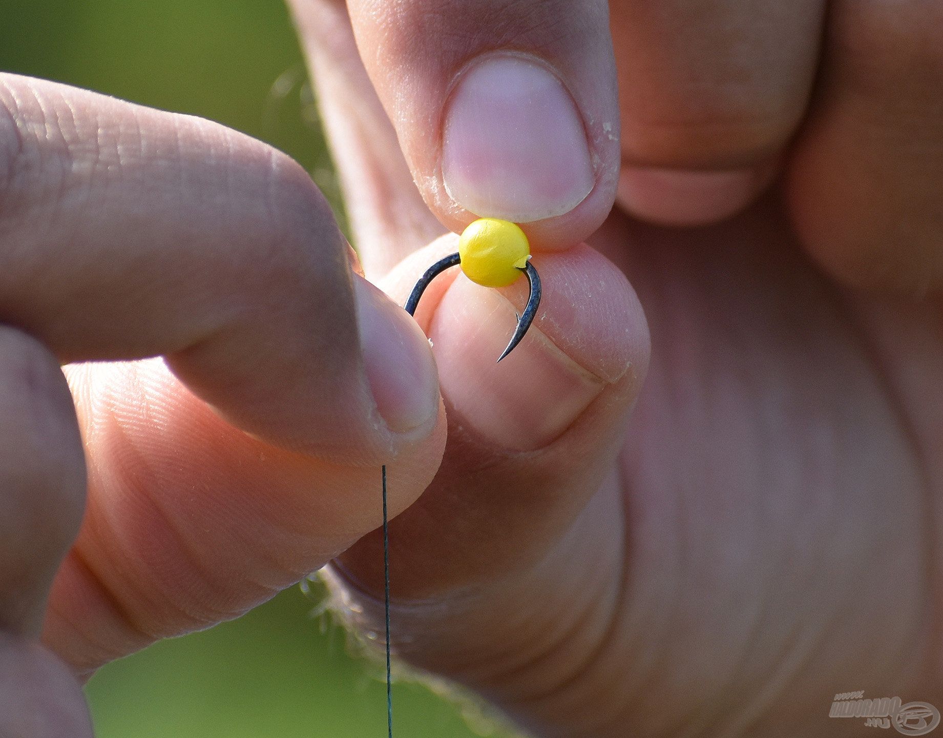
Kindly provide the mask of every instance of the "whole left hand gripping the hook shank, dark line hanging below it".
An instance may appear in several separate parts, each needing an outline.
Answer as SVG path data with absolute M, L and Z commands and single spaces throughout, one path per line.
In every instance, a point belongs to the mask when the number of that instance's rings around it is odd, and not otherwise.
M 0 735 L 91 735 L 76 677 L 376 528 L 380 464 L 428 485 L 435 364 L 353 261 L 272 148 L 0 76 Z

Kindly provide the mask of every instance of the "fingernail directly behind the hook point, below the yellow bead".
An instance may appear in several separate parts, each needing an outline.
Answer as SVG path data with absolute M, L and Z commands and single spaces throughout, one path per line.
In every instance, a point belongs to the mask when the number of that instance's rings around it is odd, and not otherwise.
M 516 324 L 503 294 L 459 276 L 439 302 L 430 335 L 454 421 L 492 444 L 529 451 L 570 428 L 605 383 L 536 326 L 496 363 Z

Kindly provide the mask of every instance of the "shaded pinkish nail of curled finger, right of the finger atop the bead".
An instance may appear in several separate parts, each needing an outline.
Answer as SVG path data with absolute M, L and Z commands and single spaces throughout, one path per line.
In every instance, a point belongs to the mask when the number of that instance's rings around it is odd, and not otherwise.
M 665 226 L 703 226 L 734 215 L 768 183 L 766 172 L 737 169 L 696 172 L 623 167 L 620 205 Z

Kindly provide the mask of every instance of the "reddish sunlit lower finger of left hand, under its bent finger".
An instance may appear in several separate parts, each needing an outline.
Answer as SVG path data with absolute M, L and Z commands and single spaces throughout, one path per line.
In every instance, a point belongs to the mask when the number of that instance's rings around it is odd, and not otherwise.
M 160 361 L 70 370 L 94 462 L 85 521 L 58 571 L 43 642 L 80 674 L 239 616 L 382 522 L 379 464 L 259 443 Z M 443 422 L 424 443 L 390 456 L 391 516 L 433 477 L 444 430 Z

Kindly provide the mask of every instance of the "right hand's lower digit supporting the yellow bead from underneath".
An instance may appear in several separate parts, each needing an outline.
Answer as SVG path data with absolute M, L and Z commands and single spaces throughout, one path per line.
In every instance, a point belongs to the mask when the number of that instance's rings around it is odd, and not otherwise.
M 402 268 L 415 274 L 434 256 Z M 616 267 L 585 245 L 535 262 L 538 320 L 500 364 L 525 286 L 434 283 L 420 319 L 442 372 L 448 447 L 429 490 L 389 531 L 398 653 L 486 693 L 561 631 L 564 651 L 591 651 L 612 614 L 623 524 L 612 513 L 613 460 L 648 363 L 645 320 Z M 372 631 L 383 624 L 381 549 L 372 534 L 336 570 L 348 614 Z M 539 689 L 571 668 L 564 658 L 523 681 Z

